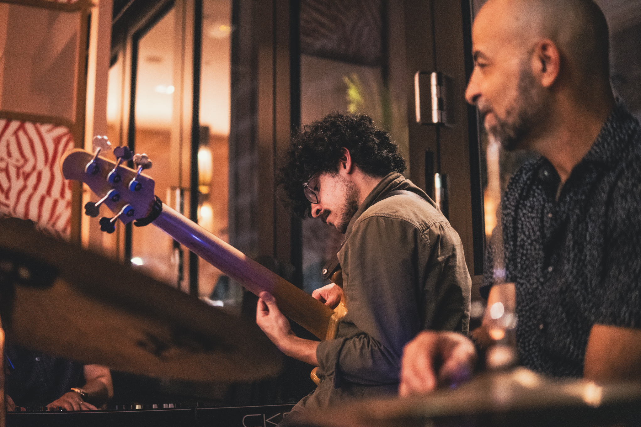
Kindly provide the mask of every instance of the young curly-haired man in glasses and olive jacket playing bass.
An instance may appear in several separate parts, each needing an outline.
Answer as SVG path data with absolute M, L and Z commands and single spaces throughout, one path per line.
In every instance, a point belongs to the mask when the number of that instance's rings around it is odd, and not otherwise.
M 274 297 L 262 293 L 256 322 L 286 355 L 318 366 L 319 387 L 301 411 L 395 394 L 403 346 L 424 328 L 467 333 L 471 281 L 456 231 L 422 189 L 387 132 L 365 115 L 331 113 L 304 127 L 287 150 L 281 184 L 294 213 L 345 234 L 337 254 L 347 316 L 337 339 L 292 333 Z M 313 296 L 334 307 L 330 284 Z

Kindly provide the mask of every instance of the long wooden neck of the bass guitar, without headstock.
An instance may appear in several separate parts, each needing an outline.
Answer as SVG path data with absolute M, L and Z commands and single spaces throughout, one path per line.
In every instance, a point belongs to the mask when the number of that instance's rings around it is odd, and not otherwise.
M 334 314 L 327 305 L 164 203 L 162 213 L 152 224 L 242 284 L 248 291 L 256 295 L 261 291 L 271 293 L 276 297 L 278 308 L 285 316 L 320 339 L 326 338 L 329 319 Z

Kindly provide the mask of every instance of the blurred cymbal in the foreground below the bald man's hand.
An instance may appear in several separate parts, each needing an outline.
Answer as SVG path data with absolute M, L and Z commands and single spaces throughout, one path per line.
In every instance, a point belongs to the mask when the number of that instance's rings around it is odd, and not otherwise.
M 596 385 L 587 380 L 555 381 L 517 367 L 480 374 L 452 390 L 411 398 L 364 400 L 313 413 L 301 425 L 426 426 L 431 425 L 426 422 L 428 419 L 449 419 L 445 425 L 583 426 L 598 425 L 591 423 L 597 415 L 606 419 L 616 416 L 612 414 L 628 416 L 631 410 L 632 415 L 639 417 L 639 403 L 641 383 Z M 608 407 L 616 410 L 599 412 L 600 408 Z

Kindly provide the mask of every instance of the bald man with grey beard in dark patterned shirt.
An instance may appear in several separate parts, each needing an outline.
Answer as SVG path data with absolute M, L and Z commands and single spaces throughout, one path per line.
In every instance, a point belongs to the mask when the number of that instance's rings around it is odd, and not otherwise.
M 489 0 L 472 45 L 467 101 L 504 149 L 541 154 L 502 202 L 520 363 L 641 380 L 641 133 L 610 87 L 603 13 L 590 0 Z M 404 349 L 399 392 L 465 380 L 476 357 L 461 334 L 422 332 Z

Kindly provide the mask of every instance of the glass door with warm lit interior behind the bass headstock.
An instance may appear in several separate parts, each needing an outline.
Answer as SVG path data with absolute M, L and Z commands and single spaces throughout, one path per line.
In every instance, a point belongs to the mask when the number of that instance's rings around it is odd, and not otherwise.
M 163 202 L 229 241 L 231 0 L 131 8 L 114 24 L 121 45 L 110 70 L 108 136 L 147 154 L 153 166 L 144 173 Z M 240 305 L 237 286 L 162 230 L 129 225 L 117 236 L 106 240 L 133 268 L 215 305 Z

